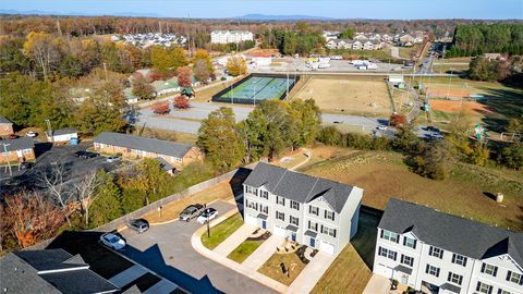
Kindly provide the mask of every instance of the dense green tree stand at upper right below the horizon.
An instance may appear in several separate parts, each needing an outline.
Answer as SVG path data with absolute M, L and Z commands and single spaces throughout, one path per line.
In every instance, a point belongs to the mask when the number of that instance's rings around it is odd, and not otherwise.
M 523 24 L 460 24 L 446 57 L 523 54 Z

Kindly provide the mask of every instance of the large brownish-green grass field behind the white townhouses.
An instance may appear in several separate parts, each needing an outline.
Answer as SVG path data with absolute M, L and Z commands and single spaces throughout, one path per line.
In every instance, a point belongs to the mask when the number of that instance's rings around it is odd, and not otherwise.
M 361 151 L 308 164 L 304 170 L 362 187 L 363 204 L 377 209 L 385 209 L 393 195 L 443 212 L 523 231 L 521 173 L 460 163 L 449 179 L 434 181 L 411 172 L 402 159 L 394 152 Z M 502 204 L 490 196 L 498 192 L 504 194 Z

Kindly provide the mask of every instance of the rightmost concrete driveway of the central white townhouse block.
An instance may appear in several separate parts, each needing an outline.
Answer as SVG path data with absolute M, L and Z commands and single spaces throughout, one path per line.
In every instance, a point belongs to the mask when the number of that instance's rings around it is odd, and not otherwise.
M 287 293 L 309 293 L 335 259 L 336 256 L 318 252 L 292 282 Z

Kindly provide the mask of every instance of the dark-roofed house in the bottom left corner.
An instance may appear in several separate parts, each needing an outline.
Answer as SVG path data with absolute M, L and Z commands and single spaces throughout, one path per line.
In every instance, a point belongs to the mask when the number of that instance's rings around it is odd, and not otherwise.
M 20 250 L 0 259 L 2 293 L 114 293 L 118 286 L 63 249 Z

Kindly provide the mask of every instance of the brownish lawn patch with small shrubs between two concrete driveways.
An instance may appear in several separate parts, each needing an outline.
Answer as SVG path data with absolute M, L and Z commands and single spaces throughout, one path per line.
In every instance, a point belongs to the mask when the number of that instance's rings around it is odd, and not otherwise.
M 289 269 L 289 278 L 283 274 L 280 264 L 283 262 Z M 263 274 L 280 282 L 290 285 L 294 279 L 305 268 L 305 264 L 300 260 L 296 254 L 277 254 L 275 253 L 269 260 L 267 260 L 258 271 Z

